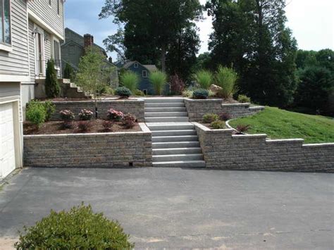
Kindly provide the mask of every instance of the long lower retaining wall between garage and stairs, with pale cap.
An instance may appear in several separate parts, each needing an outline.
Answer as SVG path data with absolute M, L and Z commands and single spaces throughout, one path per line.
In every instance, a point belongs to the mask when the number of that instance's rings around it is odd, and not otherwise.
M 150 167 L 151 131 L 68 135 L 25 135 L 25 167 Z

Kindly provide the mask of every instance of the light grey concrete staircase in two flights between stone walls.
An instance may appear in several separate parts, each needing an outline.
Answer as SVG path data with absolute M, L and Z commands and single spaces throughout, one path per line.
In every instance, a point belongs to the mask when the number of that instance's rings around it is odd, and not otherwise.
M 145 122 L 152 132 L 154 167 L 205 167 L 183 98 L 145 99 Z

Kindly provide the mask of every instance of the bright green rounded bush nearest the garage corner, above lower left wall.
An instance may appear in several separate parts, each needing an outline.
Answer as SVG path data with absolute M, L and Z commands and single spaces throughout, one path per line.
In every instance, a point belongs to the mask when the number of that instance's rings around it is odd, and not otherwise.
M 37 129 L 42 126 L 47 118 L 44 105 L 39 101 L 30 101 L 25 112 L 26 119 L 33 123 Z

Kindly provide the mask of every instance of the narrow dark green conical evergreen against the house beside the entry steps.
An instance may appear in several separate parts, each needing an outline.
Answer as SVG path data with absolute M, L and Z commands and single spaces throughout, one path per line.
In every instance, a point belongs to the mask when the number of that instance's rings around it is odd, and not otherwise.
M 51 59 L 47 62 L 47 73 L 45 77 L 45 94 L 47 94 L 48 98 L 54 98 L 59 95 L 61 91 L 58 79 L 57 72 L 54 68 L 54 60 Z

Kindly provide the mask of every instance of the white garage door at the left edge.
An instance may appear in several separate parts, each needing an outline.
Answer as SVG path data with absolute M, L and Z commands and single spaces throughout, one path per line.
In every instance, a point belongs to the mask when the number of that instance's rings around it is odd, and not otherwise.
M 0 177 L 15 169 L 13 103 L 0 104 Z

